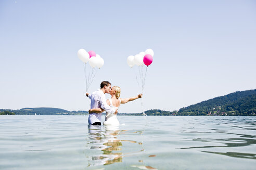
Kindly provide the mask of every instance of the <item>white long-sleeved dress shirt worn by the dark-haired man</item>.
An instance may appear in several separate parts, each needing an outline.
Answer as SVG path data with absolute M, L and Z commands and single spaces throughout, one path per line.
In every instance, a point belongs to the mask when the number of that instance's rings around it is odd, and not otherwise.
M 93 92 L 92 94 L 89 94 L 88 97 L 91 99 L 91 109 L 95 108 L 103 108 L 108 113 L 114 113 L 116 112 L 116 109 L 110 107 L 106 102 L 106 97 L 103 91 L 100 89 Z M 101 122 L 101 115 L 102 113 L 94 113 L 92 112 L 89 114 L 88 117 L 88 123 L 89 125 L 95 123 L 95 122 Z

